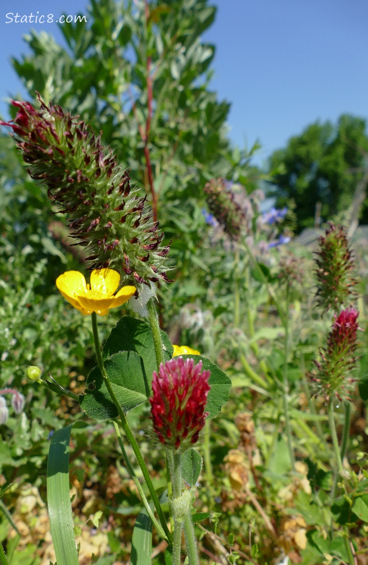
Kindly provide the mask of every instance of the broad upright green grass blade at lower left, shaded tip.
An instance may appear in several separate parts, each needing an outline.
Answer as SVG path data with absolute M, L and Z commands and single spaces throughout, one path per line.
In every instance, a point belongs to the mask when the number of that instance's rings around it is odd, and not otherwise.
M 47 460 L 47 506 L 58 565 L 78 565 L 69 493 L 69 439 L 72 425 L 54 433 Z

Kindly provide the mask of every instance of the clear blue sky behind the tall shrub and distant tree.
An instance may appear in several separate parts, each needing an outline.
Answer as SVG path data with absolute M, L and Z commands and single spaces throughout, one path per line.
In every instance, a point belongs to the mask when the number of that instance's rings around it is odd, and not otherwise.
M 367 0 L 217 0 L 216 22 L 204 40 L 216 45 L 212 89 L 232 103 L 234 144 L 256 139 L 262 163 L 274 149 L 316 121 L 349 113 L 368 119 Z M 25 95 L 10 57 L 27 46 L 30 28 L 61 38 L 53 24 L 6 23 L 12 12 L 85 14 L 87 0 L 2 0 L 0 114 L 8 95 Z M 14 16 L 13 16 L 14 17 Z M 68 25 L 68 24 L 64 24 Z

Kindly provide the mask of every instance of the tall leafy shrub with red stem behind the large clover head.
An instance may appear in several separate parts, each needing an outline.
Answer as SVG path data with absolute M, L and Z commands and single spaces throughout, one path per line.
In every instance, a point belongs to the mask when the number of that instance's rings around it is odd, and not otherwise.
M 30 55 L 14 67 L 31 97 L 37 90 L 102 131 L 104 144 L 150 195 L 164 242 L 172 240 L 172 264 L 185 276 L 205 225 L 196 208 L 204 201 L 200 188 L 221 176 L 251 192 L 259 172 L 249 159 L 257 147 L 250 154 L 231 148 L 230 104 L 209 88 L 214 46 L 201 35 L 216 8 L 207 0 L 155 0 L 146 23 L 144 9 L 144 2 L 93 1 L 87 24 L 60 26 L 66 48 L 32 32 Z

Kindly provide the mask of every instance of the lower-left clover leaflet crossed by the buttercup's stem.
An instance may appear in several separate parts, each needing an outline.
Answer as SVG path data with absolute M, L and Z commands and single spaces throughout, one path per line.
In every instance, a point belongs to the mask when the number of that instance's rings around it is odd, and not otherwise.
M 146 402 L 149 390 L 140 355 L 134 351 L 120 351 L 106 359 L 104 365 L 111 388 L 124 412 Z M 94 367 L 87 378 L 87 383 L 93 381 L 95 388 L 86 390 L 80 397 L 82 410 L 89 418 L 97 420 L 116 418 L 119 413 L 98 367 Z

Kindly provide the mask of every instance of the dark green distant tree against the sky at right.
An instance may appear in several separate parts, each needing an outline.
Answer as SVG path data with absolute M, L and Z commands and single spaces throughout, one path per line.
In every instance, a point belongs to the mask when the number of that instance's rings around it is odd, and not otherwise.
M 317 202 L 326 221 L 351 206 L 358 193 L 362 206 L 357 213 L 363 223 L 368 222 L 368 136 L 364 119 L 342 115 L 336 125 L 316 121 L 292 137 L 284 149 L 274 151 L 269 170 L 276 171 L 272 184 L 277 205 L 283 206 L 290 199 L 296 203 L 299 231 L 314 225 Z

